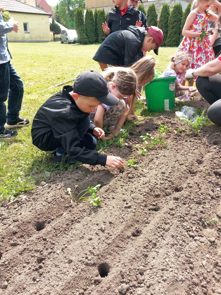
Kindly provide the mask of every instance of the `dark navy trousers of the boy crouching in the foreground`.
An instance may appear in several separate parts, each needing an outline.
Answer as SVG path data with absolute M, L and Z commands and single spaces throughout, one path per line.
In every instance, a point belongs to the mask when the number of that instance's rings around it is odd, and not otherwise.
M 85 117 L 85 119 L 81 120 L 77 124 L 77 131 L 80 137 L 80 147 L 85 147 L 87 150 L 95 150 L 97 147 L 97 140 L 96 137 L 90 133 L 87 133 L 88 129 L 90 127 L 90 119 L 89 117 Z M 63 154 L 65 152 L 62 145 L 57 149 L 58 153 Z

